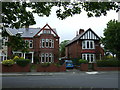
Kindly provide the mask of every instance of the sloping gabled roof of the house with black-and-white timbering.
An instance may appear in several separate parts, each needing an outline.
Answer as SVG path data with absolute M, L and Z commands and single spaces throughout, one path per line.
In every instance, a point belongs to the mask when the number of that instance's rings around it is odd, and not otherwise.
M 73 38 L 71 41 L 69 41 L 66 46 L 72 44 L 73 42 L 75 42 L 75 41 L 77 41 L 79 39 L 82 39 L 81 37 L 84 36 L 88 31 L 91 31 L 98 38 L 98 40 L 100 40 L 100 37 L 91 28 L 89 28 L 88 30 L 86 30 L 82 34 L 79 34 L 78 36 L 76 36 L 75 38 Z

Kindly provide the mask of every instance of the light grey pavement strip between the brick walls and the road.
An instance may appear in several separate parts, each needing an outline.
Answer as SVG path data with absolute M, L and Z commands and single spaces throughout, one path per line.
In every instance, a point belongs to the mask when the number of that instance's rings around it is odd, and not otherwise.
M 66 72 L 8 72 L 8 73 L 0 73 L 0 76 L 52 76 L 52 75 L 60 75 L 60 74 L 112 74 L 117 73 L 120 75 L 119 71 L 79 71 L 79 70 L 66 70 Z

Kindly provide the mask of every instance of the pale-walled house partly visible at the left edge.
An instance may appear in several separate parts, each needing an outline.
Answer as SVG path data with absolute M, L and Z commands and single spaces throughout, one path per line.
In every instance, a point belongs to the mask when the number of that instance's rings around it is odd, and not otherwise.
M 7 42 L 7 37 L 2 37 L 2 28 L 3 25 L 0 23 L 0 61 L 7 59 L 7 46 L 5 46 L 5 42 Z

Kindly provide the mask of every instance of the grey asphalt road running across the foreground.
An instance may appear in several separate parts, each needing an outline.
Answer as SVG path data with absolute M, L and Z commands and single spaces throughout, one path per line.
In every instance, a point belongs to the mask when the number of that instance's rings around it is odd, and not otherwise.
M 118 72 L 64 72 L 43 76 L 5 76 L 3 88 L 120 88 Z

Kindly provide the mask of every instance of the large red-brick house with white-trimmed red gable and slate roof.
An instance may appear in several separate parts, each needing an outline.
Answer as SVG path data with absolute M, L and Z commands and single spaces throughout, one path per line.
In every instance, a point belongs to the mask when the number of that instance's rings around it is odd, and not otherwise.
M 21 34 L 21 37 L 29 44 L 29 53 L 13 51 L 8 47 L 8 55 L 17 54 L 26 59 L 31 59 L 32 63 L 53 63 L 58 61 L 59 36 L 56 29 L 52 29 L 48 24 L 43 28 L 19 28 L 6 30 L 10 35 Z

